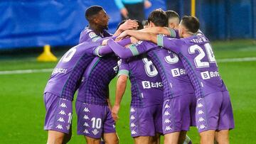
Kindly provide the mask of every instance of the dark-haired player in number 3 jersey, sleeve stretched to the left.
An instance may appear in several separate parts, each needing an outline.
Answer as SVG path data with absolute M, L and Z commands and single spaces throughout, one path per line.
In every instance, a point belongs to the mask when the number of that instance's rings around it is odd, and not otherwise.
M 168 25 L 166 13 L 159 9 L 151 12 L 148 21 L 151 27 Z M 171 30 L 171 34 L 176 36 L 176 31 Z M 113 40 L 109 40 L 108 45 L 123 58 L 147 52 L 164 84 L 164 143 L 183 143 L 195 112 L 191 107 L 196 101 L 193 86 L 179 57 L 174 52 L 146 41 L 131 45 L 129 49 L 119 47 Z

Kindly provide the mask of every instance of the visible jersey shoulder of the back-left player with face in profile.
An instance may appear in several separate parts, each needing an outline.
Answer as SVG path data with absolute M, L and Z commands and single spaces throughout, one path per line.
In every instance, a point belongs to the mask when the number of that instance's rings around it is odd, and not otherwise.
M 79 43 L 83 42 L 96 42 L 97 40 L 101 38 L 110 37 L 112 34 L 108 33 L 107 31 L 103 30 L 100 35 L 97 35 L 90 27 L 86 27 L 81 33 L 80 33 L 80 39 Z

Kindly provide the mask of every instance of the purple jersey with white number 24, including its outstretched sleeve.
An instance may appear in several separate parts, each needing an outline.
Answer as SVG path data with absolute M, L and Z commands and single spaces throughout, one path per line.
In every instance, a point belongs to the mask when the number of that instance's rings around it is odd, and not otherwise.
M 157 44 L 179 55 L 197 98 L 227 90 L 218 72 L 210 42 L 202 33 L 181 39 L 157 35 Z

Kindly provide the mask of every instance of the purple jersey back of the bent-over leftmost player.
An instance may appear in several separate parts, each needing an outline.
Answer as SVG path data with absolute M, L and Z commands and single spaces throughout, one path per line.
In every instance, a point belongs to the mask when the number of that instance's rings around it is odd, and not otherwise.
M 73 100 L 82 72 L 93 60 L 99 43 L 81 43 L 68 50 L 55 66 L 44 92 Z

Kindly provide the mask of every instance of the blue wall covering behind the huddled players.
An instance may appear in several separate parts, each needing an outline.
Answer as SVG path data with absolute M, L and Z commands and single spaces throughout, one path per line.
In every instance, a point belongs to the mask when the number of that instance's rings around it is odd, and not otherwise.
M 190 0 L 151 0 L 153 9 L 174 9 L 190 14 Z M 110 15 L 110 32 L 120 21 L 113 0 L 0 0 L 0 50 L 50 45 L 76 45 L 80 31 L 87 26 L 84 13 L 100 5 Z M 255 0 L 196 1 L 201 30 L 213 39 L 256 38 Z

